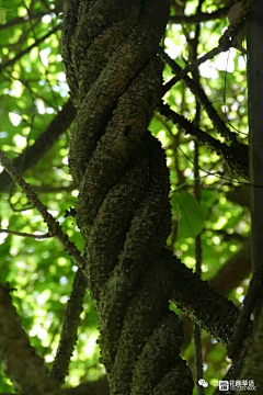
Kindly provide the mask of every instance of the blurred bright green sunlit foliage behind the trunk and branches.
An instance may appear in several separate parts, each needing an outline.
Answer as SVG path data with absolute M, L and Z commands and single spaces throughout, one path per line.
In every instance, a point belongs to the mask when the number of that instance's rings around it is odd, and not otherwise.
M 182 5 L 183 4 L 183 5 Z M 221 1 L 203 1 L 202 10 L 213 12 Z M 16 158 L 32 146 L 68 100 L 68 87 L 59 54 L 61 1 L 2 0 L 7 22 L 0 24 L 0 146 L 10 158 Z M 195 13 L 197 1 L 172 2 L 171 16 Z M 57 27 L 58 26 L 58 27 Z M 190 57 L 188 42 L 194 35 L 194 24 L 169 23 L 164 45 L 170 57 L 185 66 Z M 227 19 L 201 23 L 198 54 L 217 45 L 227 26 Z M 44 40 L 42 38 L 44 37 Z M 236 49 L 218 55 L 199 68 L 201 83 L 209 100 L 232 128 L 240 140 L 247 143 L 248 110 L 245 58 Z M 164 80 L 172 77 L 169 66 L 163 70 Z M 176 83 L 165 97 L 176 112 L 193 120 L 195 100 L 184 82 Z M 213 131 L 207 115 L 202 111 L 199 125 Z M 210 280 L 224 266 L 242 251 L 250 232 L 247 187 L 239 187 L 222 173 L 220 157 L 199 147 L 201 203 L 193 194 L 194 139 L 171 122 L 156 113 L 150 129 L 167 151 L 171 173 L 171 210 L 173 228 L 168 248 L 190 268 L 195 266 L 194 238 L 202 232 L 203 279 Z M 52 149 L 25 173 L 25 179 L 38 192 L 48 211 L 62 224 L 62 229 L 83 249 L 83 240 L 75 218 L 65 217 L 75 206 L 78 191 L 68 173 L 68 142 L 70 131 L 59 136 Z M 0 171 L 3 171 L 0 168 Z M 211 173 L 217 172 L 217 177 Z M 221 178 L 225 177 L 225 178 Z M 237 190 L 238 188 L 238 190 Z M 1 189 L 1 187 L 0 187 Z M 238 192 L 237 192 L 238 191 Z M 2 192 L 0 201 L 1 228 L 28 233 L 47 232 L 42 217 L 15 185 Z M 70 294 L 76 267 L 56 239 L 35 240 L 0 233 L 0 282 L 11 282 L 15 287 L 13 301 L 37 352 L 52 363 L 61 329 L 65 305 Z M 229 282 L 229 297 L 235 304 L 242 303 L 248 286 L 244 274 L 239 284 Z M 172 308 L 175 308 L 172 306 Z M 87 295 L 79 341 L 70 365 L 67 384 L 82 380 L 95 380 L 103 373 L 99 363 L 96 315 Z M 194 349 L 191 342 L 191 325 L 185 320 L 183 358 L 194 370 Z M 203 332 L 205 380 L 207 394 L 227 371 L 229 360 L 226 350 Z M 10 381 L 0 375 L 0 392 L 12 392 Z

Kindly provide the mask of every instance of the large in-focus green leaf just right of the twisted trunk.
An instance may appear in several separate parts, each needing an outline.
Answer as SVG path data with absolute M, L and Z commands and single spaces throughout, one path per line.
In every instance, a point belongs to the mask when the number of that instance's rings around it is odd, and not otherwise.
M 179 237 L 196 237 L 204 227 L 203 208 L 187 192 L 174 193 L 171 200 L 173 213 L 180 214 Z

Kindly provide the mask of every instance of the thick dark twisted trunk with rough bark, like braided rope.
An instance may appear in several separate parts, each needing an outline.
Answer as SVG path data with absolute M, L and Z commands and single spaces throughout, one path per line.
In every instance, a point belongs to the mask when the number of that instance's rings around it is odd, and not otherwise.
M 169 0 L 65 0 L 61 52 L 77 117 L 69 165 L 79 188 L 84 274 L 111 394 L 191 394 L 169 311 L 169 173 L 147 131 L 159 101 L 157 47 Z

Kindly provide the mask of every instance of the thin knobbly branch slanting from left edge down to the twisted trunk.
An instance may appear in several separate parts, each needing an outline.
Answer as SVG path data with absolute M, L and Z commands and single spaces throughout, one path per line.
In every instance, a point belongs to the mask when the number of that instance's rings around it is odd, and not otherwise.
M 23 180 L 18 169 L 13 166 L 12 161 L 8 159 L 2 151 L 0 151 L 0 162 L 12 177 L 12 179 L 22 188 L 27 199 L 42 214 L 44 222 L 48 226 L 49 234 L 56 236 L 59 239 L 64 249 L 73 258 L 76 264 L 83 269 L 85 264 L 83 258 L 80 256 L 80 251 L 76 248 L 75 244 L 68 239 L 68 236 L 64 234 L 59 223 L 54 219 L 52 214 L 48 213 L 46 206 L 39 201 L 32 187 Z

